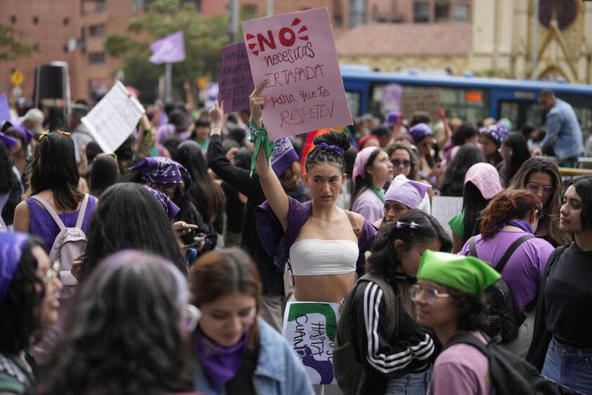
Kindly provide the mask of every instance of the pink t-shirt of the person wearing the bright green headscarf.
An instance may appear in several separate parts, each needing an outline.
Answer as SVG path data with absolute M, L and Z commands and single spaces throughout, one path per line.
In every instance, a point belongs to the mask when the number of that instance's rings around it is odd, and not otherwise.
M 486 343 L 479 332 L 472 332 Z M 455 344 L 446 348 L 433 365 L 428 394 L 487 395 L 491 387 L 487 357 L 469 344 Z

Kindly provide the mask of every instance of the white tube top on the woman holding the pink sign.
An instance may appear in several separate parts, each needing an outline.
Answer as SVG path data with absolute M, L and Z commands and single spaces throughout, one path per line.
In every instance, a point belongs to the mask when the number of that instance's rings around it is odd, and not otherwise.
M 359 249 L 351 240 L 304 238 L 290 247 L 295 276 L 322 276 L 355 272 Z

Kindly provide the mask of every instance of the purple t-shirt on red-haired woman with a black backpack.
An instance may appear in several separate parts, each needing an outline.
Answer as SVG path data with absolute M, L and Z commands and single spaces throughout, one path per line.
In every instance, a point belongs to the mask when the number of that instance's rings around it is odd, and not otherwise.
M 479 259 L 489 262 L 493 267 L 500 262 L 507 248 L 518 238 L 524 236 L 524 231 L 499 231 L 492 238 L 483 240 L 476 236 L 476 250 Z M 553 245 L 542 238 L 531 238 L 514 251 L 502 272 L 502 279 L 512 291 L 514 308 L 519 311 L 536 298 L 538 286 L 541 284 L 545 265 Z M 459 255 L 469 255 L 469 241 L 464 244 Z

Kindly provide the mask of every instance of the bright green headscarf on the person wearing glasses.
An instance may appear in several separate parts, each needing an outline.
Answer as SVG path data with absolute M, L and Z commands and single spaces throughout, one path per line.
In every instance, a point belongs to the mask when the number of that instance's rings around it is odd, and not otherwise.
M 426 250 L 421 257 L 417 279 L 436 281 L 438 284 L 467 293 L 483 293 L 501 278 L 486 262 L 476 257 L 465 257 Z

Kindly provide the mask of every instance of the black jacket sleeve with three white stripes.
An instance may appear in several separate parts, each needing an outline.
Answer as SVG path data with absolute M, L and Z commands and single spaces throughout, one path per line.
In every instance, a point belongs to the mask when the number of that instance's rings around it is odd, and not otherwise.
M 386 339 L 386 311 L 383 291 L 378 284 L 367 281 L 356 292 L 356 324 L 358 349 L 371 369 L 387 377 L 400 377 L 428 363 L 434 352 L 433 339 L 414 324 L 407 313 L 400 312 L 407 324 L 399 323 L 398 339 Z M 411 324 L 409 324 L 409 322 Z

